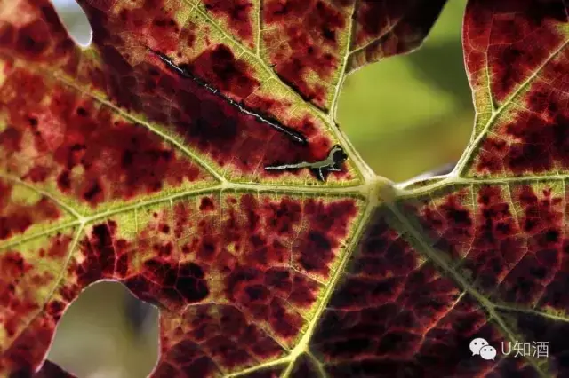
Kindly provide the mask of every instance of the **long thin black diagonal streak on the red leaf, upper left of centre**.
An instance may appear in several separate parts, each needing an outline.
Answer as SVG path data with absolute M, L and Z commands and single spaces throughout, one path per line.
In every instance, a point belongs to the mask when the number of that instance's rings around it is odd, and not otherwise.
M 165 65 L 168 68 L 170 68 L 172 71 L 176 72 L 177 74 L 181 75 L 184 78 L 193 80 L 195 83 L 204 87 L 206 90 L 211 91 L 213 94 L 215 94 L 216 96 L 219 96 L 220 98 L 223 98 L 230 105 L 236 106 L 236 108 L 239 109 L 240 112 L 242 112 L 244 114 L 252 115 L 253 117 L 255 117 L 260 122 L 268 124 L 268 126 L 272 127 L 273 129 L 275 129 L 279 132 L 284 133 L 287 137 L 293 139 L 293 141 L 300 143 L 301 145 L 307 145 L 308 144 L 307 138 L 304 135 L 302 135 L 299 131 L 296 131 L 296 130 L 293 130 L 289 127 L 284 126 L 282 123 L 276 121 L 276 119 L 274 119 L 272 117 L 263 116 L 263 115 L 260 115 L 258 113 L 255 113 L 255 111 L 248 109 L 246 106 L 244 106 L 243 102 L 237 102 L 233 98 L 228 98 L 228 96 L 225 96 L 223 93 L 221 93 L 221 91 L 217 90 L 216 88 L 213 88 L 210 84 L 205 83 L 204 80 L 200 79 L 196 75 L 190 74 L 187 69 L 184 69 L 180 66 L 175 65 L 172 62 L 172 59 L 170 59 L 164 53 L 159 52 L 159 51 L 154 51 L 154 50 L 150 49 L 149 47 L 147 47 L 147 49 L 148 49 L 148 51 L 151 51 L 152 53 L 154 53 L 158 58 L 160 58 L 165 63 Z

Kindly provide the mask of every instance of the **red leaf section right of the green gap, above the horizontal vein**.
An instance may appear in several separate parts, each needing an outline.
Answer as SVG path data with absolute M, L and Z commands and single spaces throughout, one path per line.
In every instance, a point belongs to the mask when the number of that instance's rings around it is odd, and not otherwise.
M 569 167 L 567 5 L 512 3 L 469 4 L 463 41 L 477 107 L 469 152 L 477 154 L 463 155 L 467 177 L 548 176 Z

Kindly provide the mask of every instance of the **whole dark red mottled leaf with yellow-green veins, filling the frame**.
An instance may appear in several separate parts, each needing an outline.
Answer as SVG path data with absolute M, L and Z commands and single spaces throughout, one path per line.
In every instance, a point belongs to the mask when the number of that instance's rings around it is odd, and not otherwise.
M 0 3 L 0 376 L 67 374 L 46 350 L 100 280 L 159 307 L 156 377 L 568 374 L 562 0 L 469 2 L 473 138 L 407 185 L 338 93 L 444 1 L 80 3 L 86 49 L 47 0 Z

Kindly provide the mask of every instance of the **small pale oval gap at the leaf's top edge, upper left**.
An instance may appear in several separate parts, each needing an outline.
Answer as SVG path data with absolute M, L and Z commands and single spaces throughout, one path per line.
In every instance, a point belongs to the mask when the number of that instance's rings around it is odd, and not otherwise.
M 76 0 L 52 0 L 52 4 L 71 38 L 83 47 L 89 46 L 92 41 L 92 28 Z

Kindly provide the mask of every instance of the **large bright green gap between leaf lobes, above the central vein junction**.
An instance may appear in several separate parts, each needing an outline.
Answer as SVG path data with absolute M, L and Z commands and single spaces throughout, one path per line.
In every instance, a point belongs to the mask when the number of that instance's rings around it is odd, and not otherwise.
M 370 167 L 401 182 L 455 164 L 474 106 L 461 48 L 466 1 L 447 2 L 421 48 L 349 75 L 338 122 Z

